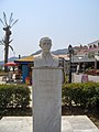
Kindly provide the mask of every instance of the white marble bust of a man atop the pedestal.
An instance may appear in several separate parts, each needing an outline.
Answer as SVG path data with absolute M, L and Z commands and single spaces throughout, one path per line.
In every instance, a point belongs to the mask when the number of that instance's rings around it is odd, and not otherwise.
M 42 53 L 34 57 L 34 67 L 57 67 L 58 58 L 50 52 L 52 40 L 50 37 L 42 37 L 40 40 L 40 47 Z

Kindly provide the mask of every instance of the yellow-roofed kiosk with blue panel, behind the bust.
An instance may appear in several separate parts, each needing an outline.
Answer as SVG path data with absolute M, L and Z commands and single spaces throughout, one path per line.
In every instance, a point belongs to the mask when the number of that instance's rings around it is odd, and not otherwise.
M 59 66 L 63 67 L 63 72 L 66 72 L 66 58 L 67 55 L 55 55 L 58 57 Z M 26 56 L 20 59 L 14 61 L 14 63 L 19 64 L 19 69 L 22 74 L 22 81 L 25 82 L 25 79 L 29 78 L 32 81 L 32 67 L 34 66 L 34 56 Z

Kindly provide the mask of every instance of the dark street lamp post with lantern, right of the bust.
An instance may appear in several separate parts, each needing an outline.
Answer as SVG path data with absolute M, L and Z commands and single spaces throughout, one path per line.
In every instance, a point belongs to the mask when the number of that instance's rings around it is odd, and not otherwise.
M 68 46 L 68 53 L 69 53 L 69 80 L 68 82 L 72 82 L 72 54 L 74 53 L 74 48 L 72 45 Z

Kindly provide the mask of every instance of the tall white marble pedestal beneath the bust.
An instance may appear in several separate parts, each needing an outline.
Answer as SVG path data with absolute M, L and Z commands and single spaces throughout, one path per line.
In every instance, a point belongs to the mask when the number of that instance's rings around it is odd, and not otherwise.
M 62 68 L 33 68 L 33 132 L 61 132 Z

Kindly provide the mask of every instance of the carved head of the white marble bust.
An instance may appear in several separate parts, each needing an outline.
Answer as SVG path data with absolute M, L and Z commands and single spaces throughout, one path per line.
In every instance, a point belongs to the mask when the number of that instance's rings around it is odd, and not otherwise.
M 42 37 L 40 40 L 40 47 L 42 48 L 43 53 L 50 53 L 52 47 L 52 40 L 50 37 Z

